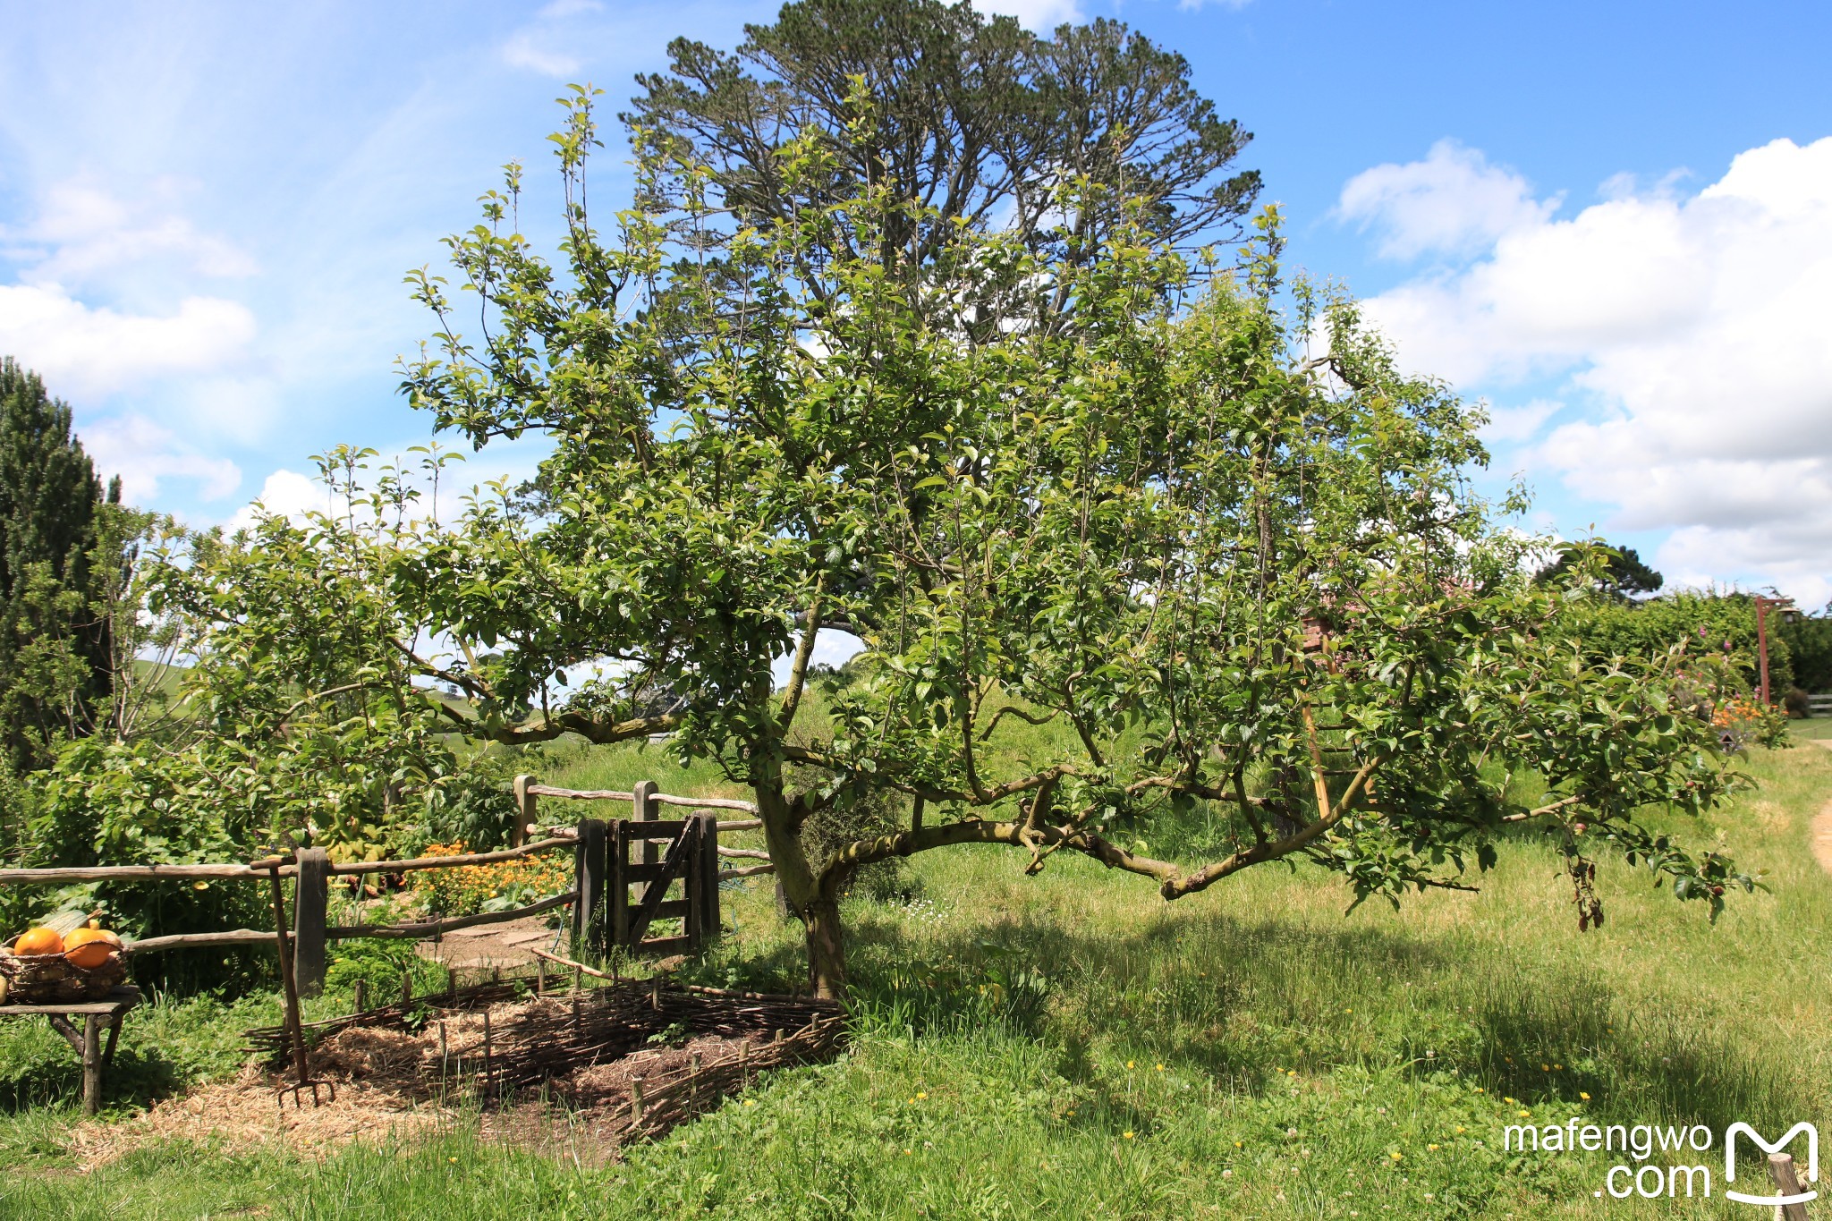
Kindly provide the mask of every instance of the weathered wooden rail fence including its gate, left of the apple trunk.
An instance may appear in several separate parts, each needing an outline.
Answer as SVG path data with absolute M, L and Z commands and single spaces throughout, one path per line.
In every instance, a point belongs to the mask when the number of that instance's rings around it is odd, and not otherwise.
M 718 884 L 724 881 L 771 873 L 769 853 L 724 848 L 720 831 L 751 831 L 762 826 L 751 802 L 733 798 L 676 796 L 658 793 L 652 782 L 641 782 L 630 793 L 555 789 L 537 783 L 533 776 L 515 778 L 517 822 L 511 846 L 502 851 L 463 853 L 454 857 L 414 857 L 410 860 L 348 860 L 335 862 L 322 848 L 302 848 L 278 862 L 258 864 L 125 864 L 125 866 L 70 866 L 49 870 L 0 870 L 0 884 L 68 884 L 68 882 L 132 882 L 132 881 L 267 881 L 273 875 L 293 879 L 291 943 L 293 963 L 302 992 L 317 992 L 324 983 L 326 945 L 346 937 L 403 937 L 414 941 L 440 939 L 460 928 L 500 924 L 526 915 L 539 915 L 572 906 L 573 948 L 603 952 L 621 946 L 634 954 L 672 954 L 700 948 L 718 935 Z M 628 802 L 630 818 L 581 818 L 573 826 L 546 827 L 540 835 L 539 798 L 583 802 Z M 663 822 L 661 805 L 685 807 L 687 818 Z M 720 820 L 718 811 L 740 811 L 749 818 Z M 410 873 L 414 870 L 451 870 L 458 866 L 520 860 L 539 853 L 572 849 L 573 888 L 507 912 L 482 912 L 449 919 L 414 921 L 401 924 L 330 924 L 330 882 L 333 877 L 365 873 Z M 764 864 L 722 870 L 722 857 L 762 860 Z M 671 897 L 680 882 L 682 895 Z M 632 895 L 630 888 L 641 893 Z M 584 895 L 584 902 L 581 902 Z M 656 921 L 682 919 L 683 930 L 674 937 L 650 937 Z M 125 954 L 156 950 L 189 950 L 229 945 L 271 945 L 278 930 L 231 928 L 207 934 L 174 934 L 128 941 Z

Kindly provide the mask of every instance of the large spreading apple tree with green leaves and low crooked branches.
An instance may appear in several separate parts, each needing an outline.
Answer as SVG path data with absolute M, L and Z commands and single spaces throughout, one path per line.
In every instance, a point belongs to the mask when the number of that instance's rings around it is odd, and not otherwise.
M 826 132 L 779 150 L 804 200 L 780 214 L 735 216 L 641 128 L 632 203 L 588 209 L 592 103 L 553 137 L 557 258 L 517 229 L 511 167 L 453 275 L 412 276 L 436 326 L 409 395 L 476 447 L 548 438 L 540 496 L 350 516 L 383 540 L 363 635 L 396 692 L 462 690 L 438 712 L 463 732 L 671 730 L 716 760 L 755 793 L 817 992 L 845 989 L 848 877 L 960 844 L 1030 873 L 1083 853 L 1165 899 L 1301 857 L 1398 899 L 1541 822 L 1583 923 L 1596 849 L 1713 910 L 1748 884 L 1640 820 L 1735 780 L 1684 675 L 1587 661 L 1581 595 L 1535 584 L 1537 540 L 1471 489 L 1480 417 L 1398 373 L 1354 302 L 1282 282 L 1271 211 L 1218 262 L 1083 176 L 1061 207 L 1119 216 L 1092 253 L 956 223 L 903 265 L 872 238 L 927 232 L 929 205 L 870 176 L 834 198 Z M 846 104 L 868 143 L 863 79 Z M 867 677 L 812 719 L 823 630 Z M 623 681 L 564 685 L 594 661 Z M 1020 723 L 1063 732 L 1013 763 Z M 883 791 L 905 826 L 810 855 L 812 816 Z M 1235 848 L 1147 855 L 1140 827 L 1196 802 Z

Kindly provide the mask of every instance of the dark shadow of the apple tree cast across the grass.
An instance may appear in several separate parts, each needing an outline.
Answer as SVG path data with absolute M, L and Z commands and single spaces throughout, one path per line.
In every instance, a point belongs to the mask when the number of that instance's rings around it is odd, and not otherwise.
M 1497 1097 L 1605 1120 L 1794 1122 L 1812 1100 L 1733 1027 L 1618 992 L 1583 965 L 1444 934 L 1308 928 L 1222 912 L 1090 934 L 1030 913 L 916 943 L 889 912 L 852 913 L 854 1007 L 912 1036 L 998 1023 L 1097 1076 L 1101 1043 L 1259 1093 L 1288 1067 L 1456 1073 Z M 1792 1117 L 1792 1118 L 1790 1118 Z

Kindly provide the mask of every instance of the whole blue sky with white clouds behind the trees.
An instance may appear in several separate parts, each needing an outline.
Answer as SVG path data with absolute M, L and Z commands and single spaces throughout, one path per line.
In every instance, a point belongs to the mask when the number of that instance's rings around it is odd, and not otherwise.
M 1832 599 L 1832 7 L 989 7 L 1187 55 L 1257 134 L 1293 262 L 1491 401 L 1537 525 Z M 731 46 L 773 11 L 0 0 L 0 351 L 141 503 L 297 507 L 310 454 L 427 439 L 394 392 L 427 330 L 401 275 L 511 157 L 551 216 L 559 88 L 617 103 L 671 37 Z

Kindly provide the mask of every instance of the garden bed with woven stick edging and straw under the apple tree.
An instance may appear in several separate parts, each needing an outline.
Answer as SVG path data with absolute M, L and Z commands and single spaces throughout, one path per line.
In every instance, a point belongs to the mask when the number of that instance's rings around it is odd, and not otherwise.
M 167 1098 L 123 1124 L 75 1135 L 84 1168 L 165 1137 L 280 1140 L 328 1153 L 350 1140 L 414 1137 L 476 1113 L 485 1137 L 594 1162 L 714 1109 L 768 1069 L 832 1060 L 845 1038 L 832 1001 L 691 989 L 661 979 L 504 998 L 518 981 L 460 989 L 317 1023 L 322 1106 L 286 1106 L 284 1047 L 249 1031 L 244 1073 Z M 282 1051 L 275 1058 L 275 1051 Z

